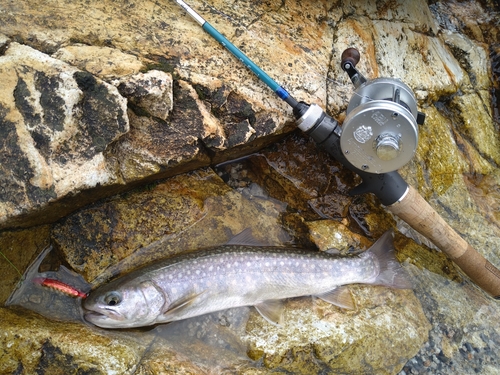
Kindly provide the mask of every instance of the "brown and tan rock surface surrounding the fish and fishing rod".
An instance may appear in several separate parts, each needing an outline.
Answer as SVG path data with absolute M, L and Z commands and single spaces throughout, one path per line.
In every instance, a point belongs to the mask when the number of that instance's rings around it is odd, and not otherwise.
M 360 50 L 367 77 L 408 84 L 427 118 L 400 173 L 500 266 L 496 2 L 191 5 L 297 99 L 339 120 L 352 95 L 339 66 L 345 48 Z M 286 104 L 174 1 L 8 2 L 0 81 L 2 302 L 30 282 L 21 275 L 49 244 L 37 272 L 62 265 L 97 286 L 247 227 L 264 243 L 341 255 L 396 228 L 397 257 L 414 283 L 413 291 L 353 286 L 354 311 L 288 301 L 282 328 L 242 308 L 131 331 L 97 329 L 73 312 L 60 321 L 51 309 L 78 311 L 80 301 L 28 288 L 25 301 L 43 316 L 0 308 L 0 372 L 409 375 L 500 367 L 498 302 L 376 198 L 350 196 L 359 179 L 307 137 L 281 140 L 294 129 Z

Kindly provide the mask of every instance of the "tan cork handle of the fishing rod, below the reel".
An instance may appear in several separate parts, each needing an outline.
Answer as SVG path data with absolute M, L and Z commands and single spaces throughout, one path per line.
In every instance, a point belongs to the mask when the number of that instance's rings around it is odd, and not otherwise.
M 413 187 L 388 209 L 430 239 L 479 287 L 500 298 L 500 270 L 460 237 Z

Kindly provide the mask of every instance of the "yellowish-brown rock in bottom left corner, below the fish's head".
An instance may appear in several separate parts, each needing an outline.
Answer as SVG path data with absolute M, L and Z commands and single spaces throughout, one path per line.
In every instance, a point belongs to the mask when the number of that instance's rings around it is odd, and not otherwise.
M 4 374 L 67 374 L 75 369 L 127 374 L 134 371 L 147 346 L 147 341 L 117 340 L 81 324 L 60 324 L 23 309 L 2 307 L 0 317 L 0 371 Z

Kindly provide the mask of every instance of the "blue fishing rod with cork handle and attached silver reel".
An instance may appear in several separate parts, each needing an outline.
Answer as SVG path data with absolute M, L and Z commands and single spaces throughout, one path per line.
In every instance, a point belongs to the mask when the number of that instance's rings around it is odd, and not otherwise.
M 414 156 L 418 126 L 425 114 L 417 109 L 413 91 L 399 79 L 366 79 L 357 69 L 360 54 L 346 49 L 341 67 L 355 91 L 342 124 L 317 104 L 294 99 L 182 0 L 175 0 L 210 36 L 229 50 L 292 108 L 297 126 L 362 183 L 351 195 L 372 193 L 386 208 L 430 239 L 479 287 L 500 299 L 500 270 L 479 254 L 397 172 Z

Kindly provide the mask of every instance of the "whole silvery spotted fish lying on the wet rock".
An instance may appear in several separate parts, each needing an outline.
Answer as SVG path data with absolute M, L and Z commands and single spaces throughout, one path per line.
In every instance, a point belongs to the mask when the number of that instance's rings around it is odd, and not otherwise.
M 348 258 L 239 244 L 248 238 L 245 232 L 226 245 L 166 259 L 97 288 L 83 301 L 85 319 L 103 328 L 131 328 L 254 306 L 270 323 L 281 324 L 286 298 L 312 295 L 352 309 L 343 285 L 411 288 L 390 231 Z

